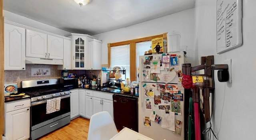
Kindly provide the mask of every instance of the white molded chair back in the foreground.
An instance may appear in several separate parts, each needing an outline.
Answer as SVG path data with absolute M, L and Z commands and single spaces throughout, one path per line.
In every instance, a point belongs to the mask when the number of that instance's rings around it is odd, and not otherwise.
M 87 140 L 109 140 L 118 134 L 115 122 L 106 111 L 91 116 Z

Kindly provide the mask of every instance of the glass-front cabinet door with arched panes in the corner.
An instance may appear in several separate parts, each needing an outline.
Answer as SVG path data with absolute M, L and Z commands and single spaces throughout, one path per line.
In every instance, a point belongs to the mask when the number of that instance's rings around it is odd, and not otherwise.
M 85 69 L 86 37 L 74 36 L 74 69 Z

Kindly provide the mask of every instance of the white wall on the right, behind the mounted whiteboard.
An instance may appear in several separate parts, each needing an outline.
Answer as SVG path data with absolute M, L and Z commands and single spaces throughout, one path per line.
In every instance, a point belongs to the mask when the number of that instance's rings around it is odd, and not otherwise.
M 216 0 L 196 0 L 195 6 L 198 58 L 214 55 L 215 64 L 232 59 L 232 84 L 218 82 L 215 72 L 212 122 L 219 140 L 256 140 L 256 0 L 242 1 L 243 45 L 223 54 L 216 54 Z

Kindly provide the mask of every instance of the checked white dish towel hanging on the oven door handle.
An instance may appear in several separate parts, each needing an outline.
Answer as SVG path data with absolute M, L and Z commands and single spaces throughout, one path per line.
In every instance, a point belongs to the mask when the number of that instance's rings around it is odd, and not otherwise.
M 60 110 L 60 100 L 61 100 L 60 97 L 47 100 L 46 114 L 50 114 L 50 113 L 59 111 Z

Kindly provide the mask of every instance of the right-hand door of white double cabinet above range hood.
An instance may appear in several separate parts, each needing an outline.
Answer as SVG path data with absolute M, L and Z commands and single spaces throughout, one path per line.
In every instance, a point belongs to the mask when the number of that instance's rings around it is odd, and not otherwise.
M 47 35 L 47 52 L 50 59 L 63 59 L 63 38 Z

